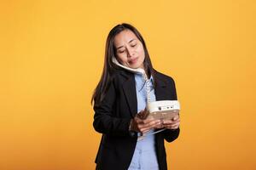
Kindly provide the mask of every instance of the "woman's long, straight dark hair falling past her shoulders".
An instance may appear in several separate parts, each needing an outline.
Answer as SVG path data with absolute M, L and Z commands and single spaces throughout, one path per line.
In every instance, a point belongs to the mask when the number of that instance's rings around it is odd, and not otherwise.
M 102 71 L 102 77 L 91 98 L 91 104 L 94 101 L 94 105 L 99 104 L 104 98 L 106 91 L 108 90 L 109 84 L 112 80 L 113 72 L 119 70 L 119 66 L 115 65 L 112 61 L 112 58 L 116 58 L 116 48 L 113 45 L 114 37 L 119 34 L 121 31 L 130 30 L 132 31 L 137 38 L 143 43 L 143 48 L 145 52 L 145 59 L 143 62 L 145 71 L 147 72 L 148 77 L 152 76 L 154 80 L 154 68 L 151 64 L 151 60 L 149 58 L 148 49 L 146 47 L 146 43 L 144 42 L 143 36 L 134 26 L 130 24 L 120 24 L 114 26 L 113 29 L 109 32 L 106 47 L 105 47 L 105 59 L 104 59 L 104 67 Z

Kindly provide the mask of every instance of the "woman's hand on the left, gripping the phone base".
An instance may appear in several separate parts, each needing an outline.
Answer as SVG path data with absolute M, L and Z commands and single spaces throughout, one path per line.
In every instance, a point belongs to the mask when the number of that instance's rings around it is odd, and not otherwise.
M 130 126 L 132 131 L 147 133 L 150 129 L 160 126 L 160 120 L 154 120 L 153 118 L 145 119 L 145 115 L 147 116 L 147 114 L 148 112 L 144 110 L 139 112 L 134 119 L 131 119 Z

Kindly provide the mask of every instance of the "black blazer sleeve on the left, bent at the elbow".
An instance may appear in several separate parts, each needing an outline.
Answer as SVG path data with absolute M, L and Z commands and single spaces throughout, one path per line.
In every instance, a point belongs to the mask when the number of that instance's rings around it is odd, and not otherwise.
M 113 116 L 116 102 L 116 90 L 113 82 L 110 83 L 108 91 L 98 105 L 94 105 L 93 127 L 98 133 L 105 133 L 115 136 L 129 135 L 129 126 L 131 119 Z

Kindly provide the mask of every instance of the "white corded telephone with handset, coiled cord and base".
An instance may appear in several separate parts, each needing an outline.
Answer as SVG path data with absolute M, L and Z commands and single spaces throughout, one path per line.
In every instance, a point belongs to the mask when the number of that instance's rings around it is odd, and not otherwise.
M 180 105 L 178 100 L 160 100 L 160 101 L 154 101 L 150 102 L 150 88 L 149 88 L 149 80 L 146 75 L 146 72 L 142 68 L 132 69 L 130 67 L 127 67 L 125 65 L 121 65 L 115 57 L 113 57 L 113 63 L 116 65 L 119 65 L 120 67 L 124 68 L 125 70 L 135 72 L 135 73 L 141 73 L 143 74 L 143 78 L 146 81 L 146 91 L 147 91 L 147 110 L 148 110 L 148 118 L 154 118 L 154 119 L 172 119 L 174 116 L 177 116 L 180 111 Z M 156 131 L 154 133 L 160 133 L 161 131 L 165 130 L 166 128 L 160 129 L 159 131 Z M 143 139 L 144 137 L 154 134 L 150 133 L 147 135 L 139 136 L 138 140 Z

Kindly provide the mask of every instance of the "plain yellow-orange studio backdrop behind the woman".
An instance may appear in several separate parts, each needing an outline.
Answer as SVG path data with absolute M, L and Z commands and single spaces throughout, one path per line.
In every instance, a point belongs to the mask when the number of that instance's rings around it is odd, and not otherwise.
M 177 170 L 256 168 L 256 3 L 1 1 L 0 169 L 85 170 L 101 135 L 90 96 L 108 31 L 131 23 L 182 105 Z

